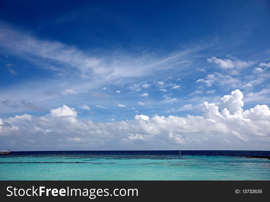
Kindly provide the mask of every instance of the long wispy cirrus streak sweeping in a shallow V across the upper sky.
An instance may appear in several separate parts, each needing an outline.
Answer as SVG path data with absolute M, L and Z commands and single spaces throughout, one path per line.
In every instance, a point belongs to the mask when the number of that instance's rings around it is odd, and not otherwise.
M 138 59 L 132 55 L 127 56 L 122 53 L 119 55 L 108 53 L 106 57 L 99 57 L 98 55 L 85 53 L 75 46 L 38 39 L 29 32 L 14 29 L 5 22 L 0 23 L 0 30 L 0 46 L 8 53 L 37 63 L 43 68 L 50 69 L 52 67 L 51 62 L 54 62 L 59 65 L 57 70 L 62 73 L 77 72 L 83 78 L 98 76 L 106 78 L 106 80 L 145 76 L 151 74 L 152 70 L 157 67 L 159 67 L 159 70 L 172 68 L 173 63 L 179 64 L 181 60 L 185 60 L 184 58 L 187 55 L 207 47 L 192 47 L 161 59 L 150 55 Z M 110 61 L 113 61 L 113 63 Z M 168 63 L 169 66 L 164 65 Z M 74 71 L 74 69 L 79 70 L 79 72 Z M 149 85 L 143 84 L 142 87 L 149 88 Z

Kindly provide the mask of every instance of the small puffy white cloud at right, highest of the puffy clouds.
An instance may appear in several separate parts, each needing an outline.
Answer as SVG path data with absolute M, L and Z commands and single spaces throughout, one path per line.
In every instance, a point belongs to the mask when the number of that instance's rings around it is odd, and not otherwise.
M 231 57 L 231 56 L 227 56 L 227 57 L 229 57 L 230 59 L 223 60 L 223 59 L 218 59 L 217 57 L 211 57 L 211 58 L 208 58 L 207 61 L 210 63 L 215 63 L 223 69 L 244 68 L 244 67 L 248 67 L 254 64 L 253 61 L 242 61 L 242 60 L 239 60 L 237 57 Z

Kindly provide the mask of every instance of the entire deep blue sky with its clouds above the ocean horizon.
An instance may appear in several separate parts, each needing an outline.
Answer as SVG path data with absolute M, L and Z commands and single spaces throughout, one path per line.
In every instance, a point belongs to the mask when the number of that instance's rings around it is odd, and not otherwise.
M 269 1 L 2 1 L 0 146 L 269 149 L 269 9 Z M 148 131 L 157 116 L 168 125 Z M 44 124 L 48 117 L 57 124 Z M 212 121 L 220 135 L 188 131 L 189 117 Z

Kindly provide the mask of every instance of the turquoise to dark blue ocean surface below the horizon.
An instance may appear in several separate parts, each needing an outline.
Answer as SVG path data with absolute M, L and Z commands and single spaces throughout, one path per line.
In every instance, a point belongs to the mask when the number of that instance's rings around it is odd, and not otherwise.
M 0 180 L 270 180 L 270 151 L 38 151 L 0 155 Z

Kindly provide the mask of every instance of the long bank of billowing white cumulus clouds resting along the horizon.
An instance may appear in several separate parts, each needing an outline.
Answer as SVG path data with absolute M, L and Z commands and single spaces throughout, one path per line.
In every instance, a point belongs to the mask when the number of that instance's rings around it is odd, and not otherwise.
M 218 105 L 201 104 L 201 115 L 168 117 L 141 114 L 131 120 L 109 123 L 81 121 L 66 105 L 45 116 L 29 114 L 0 119 L 3 146 L 16 140 L 14 147 L 38 148 L 239 148 L 266 149 L 270 145 L 270 109 L 256 105 L 243 111 L 243 94 L 236 89 L 220 99 Z M 190 108 L 192 105 L 184 105 Z M 214 135 L 218 133 L 218 135 Z M 46 138 L 44 138 L 46 137 Z M 60 141 L 61 140 L 61 141 Z M 32 142 L 35 142 L 34 144 Z M 112 146 L 114 145 L 114 146 Z M 144 148 L 146 149 L 146 148 Z

